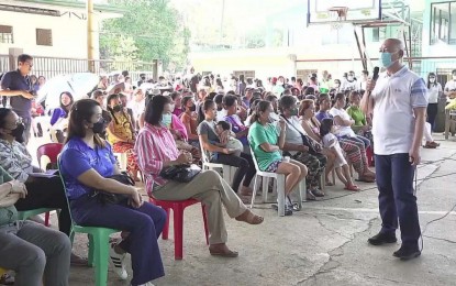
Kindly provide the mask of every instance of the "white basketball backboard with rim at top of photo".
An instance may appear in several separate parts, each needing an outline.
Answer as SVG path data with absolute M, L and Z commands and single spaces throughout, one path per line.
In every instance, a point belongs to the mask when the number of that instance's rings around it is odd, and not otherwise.
M 308 0 L 308 25 L 381 20 L 381 0 Z

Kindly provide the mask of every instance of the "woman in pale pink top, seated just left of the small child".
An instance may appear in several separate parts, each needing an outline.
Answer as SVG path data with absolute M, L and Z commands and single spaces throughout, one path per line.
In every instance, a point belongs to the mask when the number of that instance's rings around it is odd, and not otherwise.
M 320 136 L 320 122 L 315 118 L 315 103 L 311 99 L 304 99 L 299 106 L 298 116 L 300 117 L 301 127 L 304 130 L 305 134 L 313 139 L 314 141 L 322 143 Z M 326 186 L 332 186 L 333 183 L 330 182 L 329 175 L 334 167 L 334 161 L 337 158 L 337 154 L 330 148 L 323 146 L 321 153 L 326 156 L 326 166 L 325 166 L 325 182 Z

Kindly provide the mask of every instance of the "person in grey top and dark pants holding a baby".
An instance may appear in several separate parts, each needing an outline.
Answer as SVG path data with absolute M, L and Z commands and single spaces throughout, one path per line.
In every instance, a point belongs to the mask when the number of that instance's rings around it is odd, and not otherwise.
M 255 165 L 252 161 L 252 155 L 242 152 L 241 157 L 238 157 L 232 154 L 234 153 L 234 150 L 220 147 L 216 144 L 211 143 L 220 143 L 219 136 L 215 132 L 214 122 L 216 118 L 215 102 L 210 99 L 205 100 L 202 105 L 202 110 L 204 112 L 204 120 L 201 121 L 201 123 L 198 125 L 198 134 L 200 136 L 203 152 L 209 152 L 208 157 L 212 163 L 220 163 L 237 167 L 236 173 L 234 174 L 232 188 L 241 196 L 251 196 L 252 189 L 248 186 L 251 185 L 251 182 L 256 173 Z M 244 183 L 240 189 L 241 182 L 243 179 Z M 247 201 L 246 198 L 245 201 Z

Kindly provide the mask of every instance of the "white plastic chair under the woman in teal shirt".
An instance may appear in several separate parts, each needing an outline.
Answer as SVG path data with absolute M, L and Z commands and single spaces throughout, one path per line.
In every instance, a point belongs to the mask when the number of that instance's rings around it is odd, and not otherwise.
M 258 183 L 258 176 L 263 177 L 263 188 L 262 188 L 262 198 L 263 198 L 263 202 L 268 202 L 268 183 L 269 183 L 269 178 L 276 179 L 276 186 L 274 187 L 273 191 L 277 191 L 277 207 L 278 207 L 278 215 L 279 217 L 283 217 L 285 216 L 285 202 L 286 202 L 286 196 L 285 196 L 285 175 L 283 174 L 277 174 L 277 173 L 271 173 L 271 172 L 264 172 L 260 170 L 258 167 L 258 162 L 256 161 L 255 157 L 255 153 L 254 150 L 251 146 L 251 154 L 252 154 L 252 161 L 255 164 L 255 169 L 256 169 L 256 175 L 255 175 L 255 183 L 254 183 L 254 194 L 252 195 L 252 204 L 251 204 L 251 209 L 254 207 L 255 204 L 255 197 L 256 197 L 256 191 L 257 191 L 257 183 Z M 298 208 L 302 209 L 302 198 L 305 198 L 305 178 L 303 178 L 299 184 L 298 184 Z

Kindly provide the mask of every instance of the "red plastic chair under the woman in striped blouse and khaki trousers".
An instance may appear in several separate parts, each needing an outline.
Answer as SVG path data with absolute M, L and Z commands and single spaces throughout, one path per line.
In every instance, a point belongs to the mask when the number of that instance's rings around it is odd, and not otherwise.
M 168 239 L 169 232 L 169 210 L 173 209 L 174 215 L 174 229 L 175 229 L 175 260 L 182 260 L 183 257 L 183 210 L 185 208 L 192 206 L 194 204 L 200 204 L 196 199 L 187 200 L 158 200 L 155 198 L 149 198 L 152 204 L 166 210 L 167 218 L 165 227 L 163 229 L 162 239 Z M 209 232 L 208 232 L 208 219 L 205 217 L 204 206 L 201 204 L 202 209 L 202 219 L 204 221 L 204 232 L 205 232 L 205 243 L 209 245 Z

